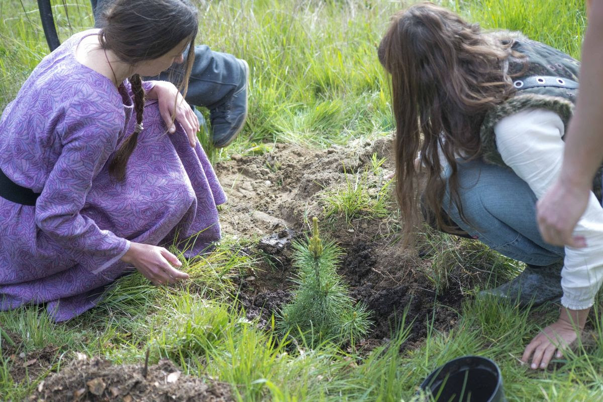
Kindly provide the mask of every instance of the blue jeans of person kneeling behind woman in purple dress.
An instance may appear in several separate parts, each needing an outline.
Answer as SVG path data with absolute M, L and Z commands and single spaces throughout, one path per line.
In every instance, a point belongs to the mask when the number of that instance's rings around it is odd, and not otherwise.
M 102 11 L 113 0 L 97 0 L 94 11 L 95 26 L 103 26 Z M 186 55 L 185 55 L 186 60 Z M 174 64 L 167 71 L 152 79 L 172 81 L 178 85 L 183 74 L 183 64 Z M 195 46 L 195 62 L 192 66 L 186 102 L 212 110 L 232 94 L 242 81 L 244 68 L 232 54 L 214 52 L 206 45 Z

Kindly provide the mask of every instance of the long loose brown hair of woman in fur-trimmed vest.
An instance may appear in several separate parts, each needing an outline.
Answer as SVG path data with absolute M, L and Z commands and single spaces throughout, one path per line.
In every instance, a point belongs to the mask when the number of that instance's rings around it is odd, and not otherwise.
M 379 45 L 379 60 L 391 75 L 404 246 L 420 221 L 419 170 L 426 172 L 426 209 L 438 227 L 452 230 L 440 215 L 446 188 L 441 156 L 452 172 L 450 197 L 464 218 L 455 158 L 480 155 L 485 113 L 514 90 L 505 68 L 511 55 L 520 57 L 512 45 L 511 37 L 482 32 L 478 24 L 432 3 L 412 5 L 393 17 Z M 419 150 L 422 167 L 415 167 Z

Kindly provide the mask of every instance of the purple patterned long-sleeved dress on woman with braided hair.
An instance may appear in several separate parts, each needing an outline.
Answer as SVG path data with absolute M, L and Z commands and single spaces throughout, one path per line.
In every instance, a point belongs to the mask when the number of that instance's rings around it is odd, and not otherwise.
M 0 197 L 0 310 L 46 303 L 54 320 L 69 320 L 133 269 L 119 261 L 130 241 L 196 235 L 186 242 L 194 255 L 220 237 L 216 205 L 226 195 L 199 144 L 180 126 L 166 134 L 156 101 L 147 102 L 125 181 L 109 176 L 107 161 L 133 132 L 133 94 L 129 82 L 118 90 L 75 59 L 94 32 L 45 57 L 0 118 L 0 169 L 41 193 L 36 206 Z

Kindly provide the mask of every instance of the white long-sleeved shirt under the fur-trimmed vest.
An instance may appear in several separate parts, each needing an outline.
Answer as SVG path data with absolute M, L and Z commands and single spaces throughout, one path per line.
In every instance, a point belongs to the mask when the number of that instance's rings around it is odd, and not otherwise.
M 529 109 L 500 120 L 494 133 L 505 164 L 540 199 L 561 170 L 564 147 L 561 118 L 549 110 Z M 561 304 L 580 310 L 593 305 L 603 281 L 603 208 L 592 192 L 573 235 L 583 236 L 587 247 L 565 248 Z

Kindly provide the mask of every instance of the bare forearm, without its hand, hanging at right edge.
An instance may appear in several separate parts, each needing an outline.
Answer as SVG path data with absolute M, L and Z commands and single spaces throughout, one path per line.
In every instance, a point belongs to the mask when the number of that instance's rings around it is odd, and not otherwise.
M 576 110 L 566 135 L 560 180 L 577 190 L 590 189 L 603 159 L 603 0 L 590 5 L 589 26 L 582 46 L 580 90 Z

